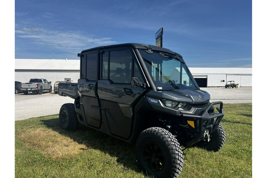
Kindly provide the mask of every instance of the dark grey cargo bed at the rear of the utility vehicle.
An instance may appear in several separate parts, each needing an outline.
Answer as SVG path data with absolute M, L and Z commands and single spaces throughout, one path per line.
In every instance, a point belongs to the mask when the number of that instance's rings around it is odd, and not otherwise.
M 78 83 L 58 83 L 58 94 L 76 99 L 79 96 Z

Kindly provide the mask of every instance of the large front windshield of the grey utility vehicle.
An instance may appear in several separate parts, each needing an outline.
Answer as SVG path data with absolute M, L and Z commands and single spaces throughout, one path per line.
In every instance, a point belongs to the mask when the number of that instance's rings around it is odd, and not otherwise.
M 158 90 L 198 89 L 182 59 L 168 53 L 139 51 Z

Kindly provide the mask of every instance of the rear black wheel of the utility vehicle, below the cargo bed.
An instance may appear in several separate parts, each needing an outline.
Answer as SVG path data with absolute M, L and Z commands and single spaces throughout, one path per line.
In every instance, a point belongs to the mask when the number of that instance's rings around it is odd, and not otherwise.
M 78 125 L 77 115 L 74 109 L 74 104 L 63 104 L 59 111 L 59 124 L 65 130 L 74 131 Z

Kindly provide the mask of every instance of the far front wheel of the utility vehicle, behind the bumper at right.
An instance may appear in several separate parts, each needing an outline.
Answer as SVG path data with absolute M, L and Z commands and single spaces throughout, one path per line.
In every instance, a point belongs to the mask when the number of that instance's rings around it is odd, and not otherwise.
M 198 147 L 205 148 L 206 150 L 210 151 L 219 151 L 222 149 L 225 143 L 225 131 L 222 127 L 222 124 L 219 124 L 217 129 L 212 132 L 210 136 L 210 141 L 200 141 L 198 142 Z

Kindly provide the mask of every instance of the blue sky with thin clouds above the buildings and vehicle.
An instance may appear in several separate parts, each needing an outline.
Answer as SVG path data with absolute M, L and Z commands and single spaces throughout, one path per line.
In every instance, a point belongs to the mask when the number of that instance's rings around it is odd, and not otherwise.
M 15 1 L 15 58 L 78 59 L 119 43 L 180 53 L 189 67 L 252 67 L 251 0 Z

